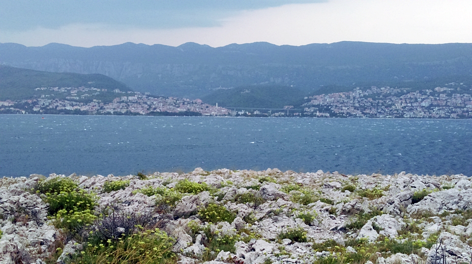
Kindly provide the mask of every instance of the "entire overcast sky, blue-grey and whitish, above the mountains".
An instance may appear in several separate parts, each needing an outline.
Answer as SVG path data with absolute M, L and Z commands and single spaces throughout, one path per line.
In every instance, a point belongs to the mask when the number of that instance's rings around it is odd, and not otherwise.
M 472 43 L 472 0 L 0 0 L 0 43 Z

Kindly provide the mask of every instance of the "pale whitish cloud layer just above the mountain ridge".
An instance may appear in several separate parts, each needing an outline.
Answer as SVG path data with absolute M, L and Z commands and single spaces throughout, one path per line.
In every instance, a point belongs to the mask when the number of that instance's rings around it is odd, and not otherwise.
M 266 41 L 305 45 L 338 41 L 388 43 L 472 42 L 470 0 L 331 0 L 240 11 L 219 26 L 110 28 L 106 24 L 39 27 L 21 33 L 0 31 L 0 42 L 28 46 L 50 42 L 75 46 L 124 42 L 178 46 L 197 42 L 212 47 Z

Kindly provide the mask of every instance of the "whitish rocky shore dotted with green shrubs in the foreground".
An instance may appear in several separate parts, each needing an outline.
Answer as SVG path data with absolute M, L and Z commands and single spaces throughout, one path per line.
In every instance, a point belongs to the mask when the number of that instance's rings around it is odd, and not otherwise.
M 0 230 L 0 264 L 470 264 L 472 187 L 405 172 L 32 174 L 0 179 Z

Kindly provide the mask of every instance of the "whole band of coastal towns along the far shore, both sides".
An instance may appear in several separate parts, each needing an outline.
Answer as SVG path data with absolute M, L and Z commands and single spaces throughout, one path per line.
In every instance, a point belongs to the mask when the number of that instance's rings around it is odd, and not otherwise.
M 281 109 L 227 109 L 200 99 L 159 97 L 149 93 L 86 87 L 38 87 L 33 99 L 0 101 L 0 113 L 201 115 L 256 117 L 358 117 L 358 118 L 472 118 L 470 88 L 462 83 L 447 87 L 355 88 L 349 92 L 305 97 L 301 107 Z

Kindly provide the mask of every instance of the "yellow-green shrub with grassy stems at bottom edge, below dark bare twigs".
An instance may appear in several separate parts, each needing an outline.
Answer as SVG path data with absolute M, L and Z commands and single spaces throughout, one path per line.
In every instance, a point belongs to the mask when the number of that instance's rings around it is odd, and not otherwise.
M 116 242 L 109 239 L 99 244 L 88 243 L 72 258 L 71 264 L 175 264 L 174 243 L 175 239 L 159 229 L 146 230 Z

